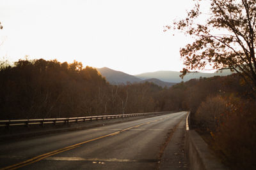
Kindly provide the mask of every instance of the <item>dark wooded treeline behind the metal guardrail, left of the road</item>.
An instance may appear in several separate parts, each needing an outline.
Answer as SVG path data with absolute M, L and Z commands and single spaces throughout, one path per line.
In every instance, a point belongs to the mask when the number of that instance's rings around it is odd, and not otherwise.
M 84 117 L 166 110 L 153 83 L 110 85 L 81 62 L 19 60 L 0 64 L 1 120 Z

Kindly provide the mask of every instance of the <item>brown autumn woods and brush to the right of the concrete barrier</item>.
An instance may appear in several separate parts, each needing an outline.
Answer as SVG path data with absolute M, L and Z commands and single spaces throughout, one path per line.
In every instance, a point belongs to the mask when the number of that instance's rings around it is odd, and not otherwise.
M 191 111 L 191 123 L 230 169 L 256 169 L 255 92 L 237 74 L 174 85 L 169 110 Z

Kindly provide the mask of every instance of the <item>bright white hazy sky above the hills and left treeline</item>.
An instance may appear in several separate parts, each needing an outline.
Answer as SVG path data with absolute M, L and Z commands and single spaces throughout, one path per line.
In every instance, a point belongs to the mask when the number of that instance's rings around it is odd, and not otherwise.
M 0 59 L 73 60 L 129 74 L 180 71 L 182 34 L 163 32 L 192 0 L 1 0 Z

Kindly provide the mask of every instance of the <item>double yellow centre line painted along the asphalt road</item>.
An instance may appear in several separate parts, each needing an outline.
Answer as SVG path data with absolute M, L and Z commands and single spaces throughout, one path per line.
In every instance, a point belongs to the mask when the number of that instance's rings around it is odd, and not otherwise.
M 48 152 L 48 153 L 44 153 L 42 155 L 38 155 L 36 157 L 33 157 L 31 159 L 28 159 L 28 160 L 25 160 L 23 162 L 20 162 L 18 164 L 13 164 L 12 166 L 7 166 L 7 167 L 3 167 L 1 168 L 0 170 L 4 170 L 4 169 L 18 169 L 19 167 L 24 167 L 24 166 L 28 166 L 29 164 L 33 164 L 35 162 L 38 162 L 42 159 L 45 159 L 47 157 L 51 157 L 52 155 L 56 155 L 58 153 L 61 153 L 61 152 L 66 152 L 68 150 L 72 150 L 74 148 L 77 148 L 78 146 L 81 146 L 83 145 L 84 143 L 88 143 L 88 142 L 91 142 L 91 141 L 96 141 L 97 139 L 101 139 L 101 138 L 106 138 L 108 136 L 115 136 L 116 134 L 119 134 L 120 132 L 124 132 L 124 131 L 128 131 L 129 129 L 132 129 L 132 128 L 135 128 L 135 127 L 140 127 L 141 125 L 145 125 L 145 124 L 151 124 L 153 122 L 157 122 L 159 120 L 162 120 L 163 118 L 160 118 L 160 119 L 157 119 L 157 120 L 154 120 L 154 121 L 151 121 L 151 122 L 146 122 L 146 123 L 143 123 L 143 124 L 139 124 L 139 125 L 135 125 L 135 126 L 132 126 L 132 127 L 128 127 L 126 129 L 122 129 L 121 131 L 117 131 L 117 132 L 113 132 L 111 134 L 106 134 L 104 136 L 100 136 L 98 138 L 94 138 L 94 139 L 90 139 L 88 141 L 83 141 L 81 143 L 77 143 L 75 145 L 70 145 L 70 146 L 67 146 L 65 148 L 61 148 L 59 150 L 54 150 L 52 152 Z

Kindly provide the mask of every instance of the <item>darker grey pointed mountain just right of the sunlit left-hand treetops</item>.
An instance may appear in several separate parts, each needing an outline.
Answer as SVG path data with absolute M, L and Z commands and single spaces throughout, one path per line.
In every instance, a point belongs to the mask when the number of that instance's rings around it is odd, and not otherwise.
M 108 67 L 99 68 L 97 70 L 102 74 L 102 76 L 106 77 L 106 80 L 111 84 L 126 84 L 128 81 L 131 83 L 141 81 L 141 79 L 136 76 L 132 76 L 121 71 L 115 71 Z

